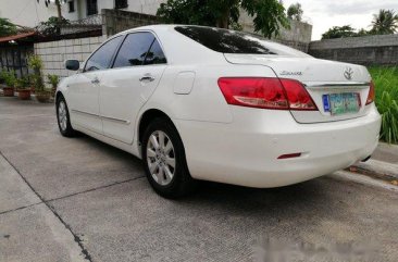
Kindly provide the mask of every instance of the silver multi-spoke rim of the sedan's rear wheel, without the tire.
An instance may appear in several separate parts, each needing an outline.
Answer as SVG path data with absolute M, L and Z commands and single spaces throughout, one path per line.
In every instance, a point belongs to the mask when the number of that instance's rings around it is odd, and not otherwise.
M 169 185 L 175 173 L 174 146 L 169 136 L 156 130 L 147 144 L 147 163 L 153 179 L 162 186 Z

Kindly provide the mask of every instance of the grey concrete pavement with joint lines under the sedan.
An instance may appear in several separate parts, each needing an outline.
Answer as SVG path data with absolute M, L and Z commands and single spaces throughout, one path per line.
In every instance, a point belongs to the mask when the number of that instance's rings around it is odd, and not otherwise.
M 61 137 L 53 113 L 0 98 L 0 261 L 398 260 L 394 188 L 338 173 L 170 201 L 134 157 Z

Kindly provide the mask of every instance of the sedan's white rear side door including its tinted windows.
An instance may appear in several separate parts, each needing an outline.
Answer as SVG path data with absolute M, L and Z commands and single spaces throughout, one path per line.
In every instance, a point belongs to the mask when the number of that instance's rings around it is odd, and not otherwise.
M 132 144 L 139 109 L 157 88 L 166 59 L 151 32 L 128 34 L 113 67 L 103 73 L 100 85 L 100 114 L 103 133 Z

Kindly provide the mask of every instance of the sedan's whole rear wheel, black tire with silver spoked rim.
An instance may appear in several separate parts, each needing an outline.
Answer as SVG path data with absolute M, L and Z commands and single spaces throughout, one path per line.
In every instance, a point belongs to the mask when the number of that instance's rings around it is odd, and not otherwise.
M 156 192 L 175 199 L 192 191 L 196 183 L 188 171 L 184 145 L 170 120 L 156 118 L 148 125 L 141 150 L 144 169 Z

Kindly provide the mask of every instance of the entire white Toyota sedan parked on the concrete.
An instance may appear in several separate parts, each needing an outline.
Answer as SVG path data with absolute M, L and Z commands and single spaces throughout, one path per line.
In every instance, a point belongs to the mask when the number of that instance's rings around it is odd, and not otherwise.
M 57 90 L 60 132 L 142 159 L 169 198 L 197 179 L 279 187 L 372 154 L 381 116 L 361 65 L 240 32 L 154 25 L 112 36 Z

